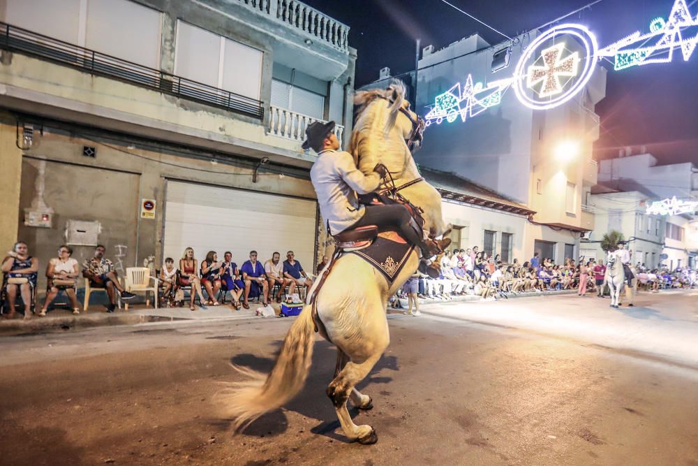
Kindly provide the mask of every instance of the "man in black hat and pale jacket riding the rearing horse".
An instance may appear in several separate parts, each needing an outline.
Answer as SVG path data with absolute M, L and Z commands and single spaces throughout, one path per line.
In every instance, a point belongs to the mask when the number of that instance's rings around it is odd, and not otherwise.
M 362 205 L 356 193 L 369 194 L 376 191 L 387 175 L 387 168 L 378 163 L 373 173 L 364 175 L 357 168 L 349 152 L 339 150 L 339 140 L 334 134 L 334 122 L 313 122 L 306 129 L 303 149 L 312 148 L 318 159 L 311 168 L 310 176 L 318 195 L 320 214 L 327 222 L 327 233 L 336 235 L 360 226 L 376 225 L 379 232 L 397 231 L 411 244 L 422 251 L 423 260 L 438 252 L 437 245 L 424 240 L 410 211 L 401 204 Z M 420 265 L 422 271 L 438 277 L 433 265 Z

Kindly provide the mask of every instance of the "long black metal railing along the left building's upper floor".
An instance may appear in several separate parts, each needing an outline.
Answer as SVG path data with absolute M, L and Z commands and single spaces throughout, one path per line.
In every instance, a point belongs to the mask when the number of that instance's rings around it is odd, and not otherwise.
M 0 22 L 0 48 L 262 119 L 261 101 Z

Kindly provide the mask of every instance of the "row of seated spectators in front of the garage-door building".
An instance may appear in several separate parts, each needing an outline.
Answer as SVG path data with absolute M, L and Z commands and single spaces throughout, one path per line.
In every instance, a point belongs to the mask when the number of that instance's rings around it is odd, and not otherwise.
M 47 289 L 37 312 L 39 316 L 46 315 L 51 303 L 61 292 L 66 294 L 73 314 L 80 314 L 77 280 L 81 275 L 89 281 L 92 289 L 106 291 L 109 300 L 107 312 L 114 312 L 117 298 L 135 298 L 135 294 L 124 290 L 119 273 L 114 269 L 114 263 L 104 257 L 104 246 L 98 245 L 94 249 L 94 255 L 82 263 L 82 270 L 77 260 L 71 257 L 72 254 L 73 249 L 68 245 L 61 245 L 58 257 L 48 261 L 45 271 Z M 326 262 L 327 258 L 323 260 Z M 265 306 L 272 300 L 281 303 L 284 294 L 286 300 L 299 302 L 298 292 L 301 289 L 309 289 L 313 284 L 311 276 L 295 259 L 292 251 L 286 253 L 285 261 L 281 261 L 279 252 L 274 252 L 263 264 L 258 261 L 257 252 L 251 251 L 249 259 L 238 267 L 237 263 L 232 261 L 231 252 L 225 252 L 223 260 L 219 260 L 215 251 L 209 251 L 205 259 L 199 263 L 194 257 L 194 250 L 188 247 L 184 249 L 178 265 L 175 265 L 174 259 L 170 257 L 165 259 L 158 272 L 161 285 L 159 299 L 163 305 L 181 305 L 184 301 L 184 291 L 188 291 L 189 309 L 192 311 L 195 310 L 195 298 L 198 297 L 200 307 L 206 309 L 207 305 L 221 305 L 218 298 L 225 298 L 228 293 L 236 310 L 241 307 L 249 309 L 249 301 L 254 298 L 258 298 Z M 5 308 L 8 310 L 4 314 L 6 318 L 15 316 L 15 304 L 17 298 L 21 297 L 24 319 L 31 319 L 39 266 L 38 259 L 29 254 L 27 243 L 22 241 L 17 242 L 3 259 L 3 287 L 6 289 L 7 300 Z

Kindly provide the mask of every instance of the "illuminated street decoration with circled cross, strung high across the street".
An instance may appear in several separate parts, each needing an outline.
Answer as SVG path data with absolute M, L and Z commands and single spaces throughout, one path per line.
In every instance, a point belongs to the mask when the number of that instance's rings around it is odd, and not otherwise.
M 599 49 L 595 36 L 581 24 L 560 24 L 540 34 L 523 50 L 514 75 L 489 82 L 476 82 L 468 75 L 466 85 L 454 85 L 436 96 L 425 115 L 426 125 L 462 122 L 487 108 L 499 105 L 502 95 L 514 88 L 517 99 L 528 108 L 547 110 L 569 101 L 584 89 L 600 59 L 612 57 L 614 69 L 653 63 L 669 63 L 681 50 L 688 61 L 698 44 L 698 17 L 691 16 L 686 0 L 676 0 L 667 20 L 651 21 L 650 32 L 639 31 Z

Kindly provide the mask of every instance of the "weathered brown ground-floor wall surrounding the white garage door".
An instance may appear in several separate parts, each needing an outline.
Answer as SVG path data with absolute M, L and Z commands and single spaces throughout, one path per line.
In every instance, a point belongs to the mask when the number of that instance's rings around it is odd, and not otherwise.
M 82 156 L 83 145 L 96 147 L 96 158 Z M 14 221 L 34 196 L 34 173 L 38 161 L 44 159 L 45 201 L 55 210 L 54 227 L 19 228 L 20 238 L 26 238 L 42 270 L 65 242 L 67 219 L 99 221 L 103 232 L 99 242 L 107 247 L 112 261 L 117 254 L 122 255 L 119 259 L 124 268 L 142 265 L 149 256 L 160 264 L 167 179 L 315 198 L 309 180 L 280 177 L 265 168 L 260 169 L 258 182 L 253 183 L 251 163 L 239 159 L 220 158 L 214 165 L 207 154 L 188 153 L 177 147 L 47 127 L 40 145 L 24 152 L 22 198 L 19 209 L 13 209 Z M 156 200 L 156 219 L 140 219 L 141 198 Z M 82 260 L 91 249 L 75 247 L 73 256 Z M 42 277 L 40 291 L 45 289 L 44 284 Z

